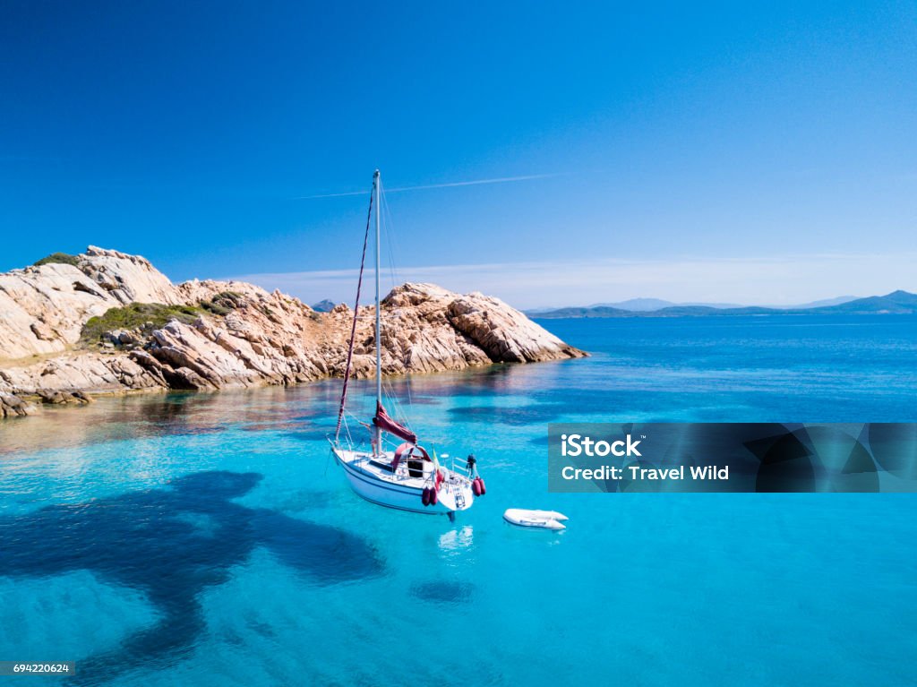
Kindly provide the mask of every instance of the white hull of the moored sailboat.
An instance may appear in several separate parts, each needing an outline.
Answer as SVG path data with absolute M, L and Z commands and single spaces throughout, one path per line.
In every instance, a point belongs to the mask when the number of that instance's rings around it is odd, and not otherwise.
M 353 491 L 373 504 L 411 513 L 448 515 L 467 510 L 474 502 L 470 480 L 458 472 L 440 468 L 447 477 L 437 493 L 437 503 L 424 505 L 424 489 L 432 485 L 432 479 L 409 476 L 406 465 L 399 466 L 394 474 L 386 471 L 381 463 L 390 463 L 392 453 L 383 460 L 373 460 L 368 453 L 348 449 L 332 448 L 332 453 Z

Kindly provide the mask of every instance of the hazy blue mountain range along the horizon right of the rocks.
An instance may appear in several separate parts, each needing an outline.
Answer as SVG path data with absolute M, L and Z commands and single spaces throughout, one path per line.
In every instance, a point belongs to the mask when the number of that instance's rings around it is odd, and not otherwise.
M 910 315 L 917 313 L 917 294 L 895 291 L 886 295 L 856 298 L 839 296 L 824 301 L 789 307 L 757 305 L 671 304 L 656 298 L 635 298 L 616 304 L 565 307 L 529 311 L 542 319 L 561 317 L 685 317 L 723 315 Z

